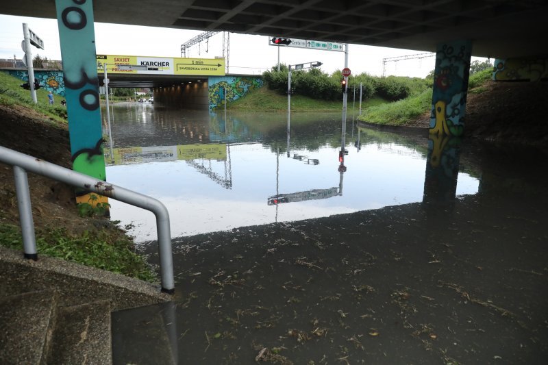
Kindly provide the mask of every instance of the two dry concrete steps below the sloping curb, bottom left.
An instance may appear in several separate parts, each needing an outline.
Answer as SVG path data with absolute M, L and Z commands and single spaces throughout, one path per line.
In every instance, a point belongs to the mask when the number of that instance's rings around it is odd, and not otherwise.
M 110 302 L 58 301 L 55 289 L 0 299 L 0 364 L 112 364 Z

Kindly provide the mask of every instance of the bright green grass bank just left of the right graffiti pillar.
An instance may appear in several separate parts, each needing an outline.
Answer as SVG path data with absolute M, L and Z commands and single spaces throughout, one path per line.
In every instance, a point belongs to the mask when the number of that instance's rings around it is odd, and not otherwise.
M 432 89 L 414 97 L 366 108 L 361 121 L 386 125 L 406 125 L 408 121 L 421 116 L 432 108 Z

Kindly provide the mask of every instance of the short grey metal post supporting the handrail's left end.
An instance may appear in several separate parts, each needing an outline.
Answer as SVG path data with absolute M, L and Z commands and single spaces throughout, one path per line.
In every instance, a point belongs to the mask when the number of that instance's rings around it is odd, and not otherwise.
M 34 235 L 34 221 L 32 219 L 32 205 L 30 201 L 29 180 L 27 171 L 19 166 L 13 166 L 15 190 L 21 235 L 23 236 L 23 252 L 26 259 L 38 260 L 36 253 L 36 236 Z

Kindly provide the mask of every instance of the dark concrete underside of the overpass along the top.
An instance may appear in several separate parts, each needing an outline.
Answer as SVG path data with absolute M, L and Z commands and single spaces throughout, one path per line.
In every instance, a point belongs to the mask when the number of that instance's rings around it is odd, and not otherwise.
M 435 51 L 469 39 L 473 55 L 548 53 L 546 1 L 540 0 L 125 0 L 93 1 L 95 21 L 288 36 Z M 121 11 L 123 10 L 123 11 Z M 5 1 L 3 14 L 56 18 L 55 1 Z

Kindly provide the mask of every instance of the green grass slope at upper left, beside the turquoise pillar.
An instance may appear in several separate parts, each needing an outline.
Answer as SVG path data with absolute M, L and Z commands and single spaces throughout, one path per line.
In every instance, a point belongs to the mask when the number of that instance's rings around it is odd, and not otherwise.
M 23 105 L 45 115 L 44 120 L 55 120 L 66 123 L 66 108 L 60 105 L 60 96 L 54 95 L 55 105 L 49 105 L 47 90 L 40 88 L 36 90 L 34 103 L 30 97 L 30 91 L 21 88 L 23 81 L 5 72 L 0 72 L 0 104 L 2 105 Z

